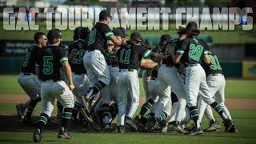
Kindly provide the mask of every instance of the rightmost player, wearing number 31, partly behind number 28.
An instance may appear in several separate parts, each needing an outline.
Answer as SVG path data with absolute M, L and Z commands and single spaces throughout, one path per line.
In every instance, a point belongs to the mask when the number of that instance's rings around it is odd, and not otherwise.
M 207 44 L 206 44 L 207 46 Z M 209 49 L 208 49 L 209 50 Z M 226 81 L 223 75 L 222 66 L 218 62 L 218 57 L 216 54 L 213 54 L 212 52 L 208 53 L 208 56 L 210 57 L 210 64 L 207 64 L 206 62 L 202 62 L 202 67 L 206 71 L 206 82 L 209 87 L 209 91 L 211 96 L 214 97 L 215 101 L 219 103 L 220 106 L 222 106 L 223 112 L 226 114 L 226 117 L 230 120 L 232 120 L 230 116 L 229 110 L 227 110 L 224 102 L 225 102 L 225 85 Z M 201 93 L 199 92 L 199 95 Z M 199 116 L 198 121 L 202 122 L 202 115 L 205 112 L 206 109 L 206 102 L 203 102 L 202 98 L 198 98 L 198 110 L 199 110 Z M 210 114 L 212 113 L 211 110 L 206 113 Z M 209 117 L 209 116 L 208 116 Z M 218 125 L 218 122 L 216 122 L 213 119 L 210 120 L 210 126 L 205 131 L 212 131 L 212 130 L 218 130 L 220 126 Z M 229 132 L 238 132 L 236 127 L 234 125 L 231 126 Z

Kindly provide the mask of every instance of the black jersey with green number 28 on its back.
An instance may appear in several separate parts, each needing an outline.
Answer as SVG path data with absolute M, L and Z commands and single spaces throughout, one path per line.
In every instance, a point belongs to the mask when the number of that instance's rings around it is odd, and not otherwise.
M 185 66 L 202 62 L 202 55 L 207 54 L 206 42 L 198 38 L 185 38 L 178 44 L 177 54 L 182 54 Z

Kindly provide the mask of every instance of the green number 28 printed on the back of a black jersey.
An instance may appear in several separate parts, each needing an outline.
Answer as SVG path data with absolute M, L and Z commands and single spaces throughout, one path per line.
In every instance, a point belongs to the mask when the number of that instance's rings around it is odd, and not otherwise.
M 189 57 L 190 59 L 199 62 L 202 55 L 203 47 L 202 45 L 195 46 L 194 44 L 190 45 Z

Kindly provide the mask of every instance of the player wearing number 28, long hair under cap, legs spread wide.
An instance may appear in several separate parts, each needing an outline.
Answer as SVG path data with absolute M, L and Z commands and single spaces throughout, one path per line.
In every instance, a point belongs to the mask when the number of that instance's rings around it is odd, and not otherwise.
M 202 60 L 206 63 L 210 63 L 210 58 L 207 55 L 205 43 L 202 40 L 196 38 L 200 31 L 196 22 L 189 22 L 186 26 L 187 37 L 182 40 L 178 45 L 178 50 L 174 58 L 174 63 L 181 62 L 185 65 L 186 80 L 185 90 L 187 105 L 190 109 L 190 114 L 194 120 L 194 126 L 190 130 L 189 134 L 202 134 L 200 122 L 198 122 L 198 108 L 197 98 L 199 90 L 202 91 L 202 99 L 218 112 L 225 122 L 226 131 L 229 131 L 234 122 L 226 117 L 222 107 L 214 102 L 214 99 L 210 95 L 209 88 L 206 84 L 206 73 L 199 64 Z

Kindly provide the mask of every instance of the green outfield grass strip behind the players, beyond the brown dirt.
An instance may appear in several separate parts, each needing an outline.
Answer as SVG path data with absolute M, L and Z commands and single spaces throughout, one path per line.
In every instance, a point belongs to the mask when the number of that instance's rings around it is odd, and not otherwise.
M 0 75 L 0 94 L 24 94 L 18 75 Z M 256 98 L 256 80 L 226 79 L 226 98 Z M 140 78 L 140 94 L 144 94 Z

